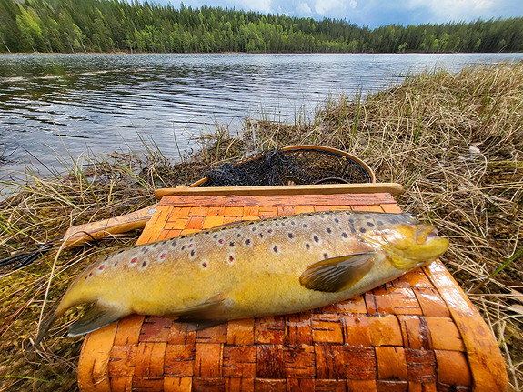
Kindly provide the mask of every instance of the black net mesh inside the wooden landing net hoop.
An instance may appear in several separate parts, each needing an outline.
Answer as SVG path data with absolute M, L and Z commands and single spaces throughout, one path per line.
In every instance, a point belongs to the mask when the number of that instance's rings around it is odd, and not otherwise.
M 271 150 L 225 164 L 207 174 L 200 186 L 278 186 L 370 183 L 367 169 L 342 152 L 296 148 Z

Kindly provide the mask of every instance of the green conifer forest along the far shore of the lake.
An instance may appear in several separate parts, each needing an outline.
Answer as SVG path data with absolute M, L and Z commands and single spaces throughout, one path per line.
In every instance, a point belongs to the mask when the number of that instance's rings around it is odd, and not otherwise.
M 369 29 L 118 0 L 0 0 L 0 52 L 517 52 L 523 17 Z

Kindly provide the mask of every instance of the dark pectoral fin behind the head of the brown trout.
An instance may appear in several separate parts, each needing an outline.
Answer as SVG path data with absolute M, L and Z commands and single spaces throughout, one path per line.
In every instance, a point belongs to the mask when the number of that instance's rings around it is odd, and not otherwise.
M 327 258 L 308 266 L 299 283 L 311 290 L 335 293 L 354 286 L 377 260 L 376 252 Z

